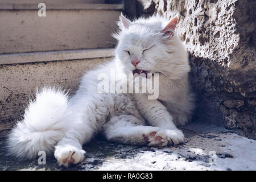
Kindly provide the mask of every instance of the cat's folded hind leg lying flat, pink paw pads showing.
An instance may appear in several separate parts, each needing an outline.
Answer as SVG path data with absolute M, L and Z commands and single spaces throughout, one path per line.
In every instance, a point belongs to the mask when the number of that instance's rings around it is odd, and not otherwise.
M 104 125 L 106 138 L 113 142 L 147 145 L 166 146 L 168 140 L 156 135 L 161 129 L 159 127 L 143 126 L 144 121 L 133 115 L 118 115 L 110 119 Z

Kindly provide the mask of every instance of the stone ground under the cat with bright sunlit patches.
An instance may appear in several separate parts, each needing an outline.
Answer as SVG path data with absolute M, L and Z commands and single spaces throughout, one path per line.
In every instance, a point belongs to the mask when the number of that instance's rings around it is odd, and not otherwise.
M 163 148 L 106 142 L 98 136 L 83 147 L 85 159 L 68 169 L 59 167 L 53 155 L 46 155 L 45 165 L 38 158 L 21 162 L 7 156 L 5 138 L 0 137 L 0 170 L 256 170 L 255 140 L 199 122 L 183 131 L 184 144 Z

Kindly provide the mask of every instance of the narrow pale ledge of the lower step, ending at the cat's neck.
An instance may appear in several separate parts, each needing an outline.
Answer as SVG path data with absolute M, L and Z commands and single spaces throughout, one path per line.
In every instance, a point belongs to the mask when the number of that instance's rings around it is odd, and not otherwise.
M 11 53 L 6 55 L 0 55 L 0 64 L 19 64 L 42 61 L 92 59 L 111 56 L 114 56 L 114 48 Z

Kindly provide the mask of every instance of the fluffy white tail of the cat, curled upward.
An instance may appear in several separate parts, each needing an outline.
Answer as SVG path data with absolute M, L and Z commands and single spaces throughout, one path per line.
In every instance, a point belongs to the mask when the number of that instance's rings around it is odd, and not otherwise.
M 7 147 L 12 155 L 35 158 L 39 151 L 52 151 L 68 127 L 68 96 L 55 88 L 43 88 L 30 101 L 24 119 L 11 130 Z

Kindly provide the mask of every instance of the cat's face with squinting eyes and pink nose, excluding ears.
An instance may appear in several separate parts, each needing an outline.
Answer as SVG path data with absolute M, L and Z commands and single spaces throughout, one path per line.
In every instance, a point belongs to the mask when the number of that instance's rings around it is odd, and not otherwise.
M 135 69 L 144 72 L 156 72 L 156 65 L 159 59 L 158 53 L 162 49 L 159 35 L 134 30 L 139 26 L 133 26 L 127 32 L 123 33 L 123 38 L 119 42 L 117 55 L 128 72 Z M 141 27 L 144 28 L 144 27 Z M 141 29 L 142 30 L 142 29 Z

